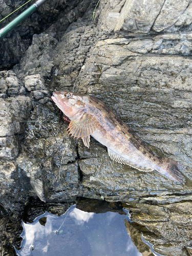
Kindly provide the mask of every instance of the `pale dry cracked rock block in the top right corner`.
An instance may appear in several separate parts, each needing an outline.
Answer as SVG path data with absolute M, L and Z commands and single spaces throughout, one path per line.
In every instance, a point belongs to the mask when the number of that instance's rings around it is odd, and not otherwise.
M 102 6 L 100 24 L 101 29 L 106 33 L 111 33 L 113 30 L 120 33 L 126 31 L 129 34 L 148 34 L 153 31 L 190 33 L 190 10 L 191 3 L 187 1 L 185 3 L 143 0 L 111 1 L 108 5 Z M 113 20 L 110 26 L 111 17 Z

